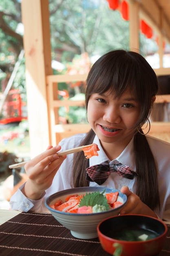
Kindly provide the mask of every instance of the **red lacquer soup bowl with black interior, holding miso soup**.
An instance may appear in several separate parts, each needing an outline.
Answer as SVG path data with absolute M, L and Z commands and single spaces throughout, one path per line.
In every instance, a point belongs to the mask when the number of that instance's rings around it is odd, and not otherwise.
M 102 220 L 97 226 L 102 248 L 117 256 L 153 256 L 166 239 L 163 221 L 144 215 L 127 214 Z

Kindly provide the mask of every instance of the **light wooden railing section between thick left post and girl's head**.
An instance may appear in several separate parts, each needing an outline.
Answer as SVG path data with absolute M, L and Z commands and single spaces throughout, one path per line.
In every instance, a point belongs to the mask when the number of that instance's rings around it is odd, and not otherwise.
M 84 101 L 59 100 L 57 84 L 61 82 L 86 81 L 86 77 L 86 74 L 46 76 L 50 144 L 58 144 L 63 138 L 90 130 L 88 124 L 59 124 L 58 114 L 61 106 L 85 106 L 85 103 Z

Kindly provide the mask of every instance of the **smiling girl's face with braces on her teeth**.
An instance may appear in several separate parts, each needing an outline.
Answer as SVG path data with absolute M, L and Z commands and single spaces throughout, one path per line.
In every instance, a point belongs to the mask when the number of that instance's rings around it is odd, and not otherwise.
M 115 99 L 110 91 L 94 93 L 88 101 L 88 122 L 104 149 L 114 144 L 122 151 L 134 135 L 139 115 L 139 103 L 130 90 Z

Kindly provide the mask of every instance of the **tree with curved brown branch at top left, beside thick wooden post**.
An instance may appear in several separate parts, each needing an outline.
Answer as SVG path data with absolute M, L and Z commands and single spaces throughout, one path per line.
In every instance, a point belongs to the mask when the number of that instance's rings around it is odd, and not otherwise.
M 0 0 L 0 69 L 10 72 L 11 66 L 23 49 L 21 24 L 21 4 L 17 0 Z

